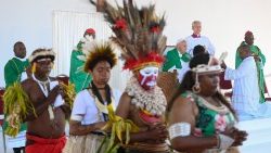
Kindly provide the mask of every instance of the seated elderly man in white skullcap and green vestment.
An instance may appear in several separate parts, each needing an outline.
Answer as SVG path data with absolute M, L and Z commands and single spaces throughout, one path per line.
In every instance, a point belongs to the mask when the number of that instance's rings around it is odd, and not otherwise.
M 176 48 L 168 51 L 163 72 L 173 73 L 177 71 L 179 81 L 182 81 L 184 74 L 189 69 L 190 54 L 186 52 L 186 41 L 179 39 Z

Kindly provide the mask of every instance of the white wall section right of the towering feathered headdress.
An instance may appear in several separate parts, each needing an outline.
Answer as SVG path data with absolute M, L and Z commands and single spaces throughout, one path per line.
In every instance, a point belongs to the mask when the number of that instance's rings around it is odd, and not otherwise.
M 168 43 L 175 44 L 180 37 L 191 35 L 191 22 L 203 23 L 203 35 L 216 47 L 216 56 L 228 51 L 225 63 L 234 66 L 235 51 L 251 30 L 257 44 L 267 58 L 266 74 L 271 73 L 271 1 L 267 0 L 154 0 L 157 9 L 166 10 Z

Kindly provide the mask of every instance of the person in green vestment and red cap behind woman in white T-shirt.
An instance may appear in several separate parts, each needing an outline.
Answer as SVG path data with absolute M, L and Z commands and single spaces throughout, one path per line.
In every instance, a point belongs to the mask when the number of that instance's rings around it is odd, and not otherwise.
M 93 28 L 88 28 L 83 34 L 83 38 L 72 52 L 69 81 L 75 85 L 77 93 L 87 88 L 92 80 L 91 75 L 83 71 L 83 65 L 88 49 L 92 47 L 94 39 L 95 30 Z

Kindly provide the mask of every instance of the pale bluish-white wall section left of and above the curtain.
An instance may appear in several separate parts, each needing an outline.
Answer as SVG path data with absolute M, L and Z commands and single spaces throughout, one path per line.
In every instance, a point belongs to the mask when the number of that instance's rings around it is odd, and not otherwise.
M 13 44 L 21 40 L 29 55 L 40 47 L 52 48 L 54 10 L 90 13 L 88 0 L 0 0 L 0 87 L 4 87 L 3 67 L 13 56 Z

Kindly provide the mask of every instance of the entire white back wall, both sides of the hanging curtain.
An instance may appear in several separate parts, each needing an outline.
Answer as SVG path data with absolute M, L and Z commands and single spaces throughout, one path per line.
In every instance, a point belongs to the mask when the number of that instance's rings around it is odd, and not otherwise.
M 115 0 L 109 0 L 114 2 Z M 121 0 L 117 0 L 121 2 Z M 168 44 L 191 35 L 191 22 L 203 22 L 203 35 L 214 42 L 219 56 L 228 51 L 225 62 L 234 65 L 237 46 L 247 29 L 254 31 L 255 43 L 267 56 L 266 74 L 270 74 L 271 1 L 268 0 L 134 0 L 140 4 L 156 2 L 157 10 L 166 12 Z M 52 47 L 52 11 L 89 13 L 94 8 L 88 0 L 0 0 L 0 87 L 4 86 L 3 65 L 13 55 L 12 46 L 22 40 L 28 54 L 39 47 Z M 98 34 L 99 35 L 99 34 Z M 68 66 L 68 65 L 67 65 Z

